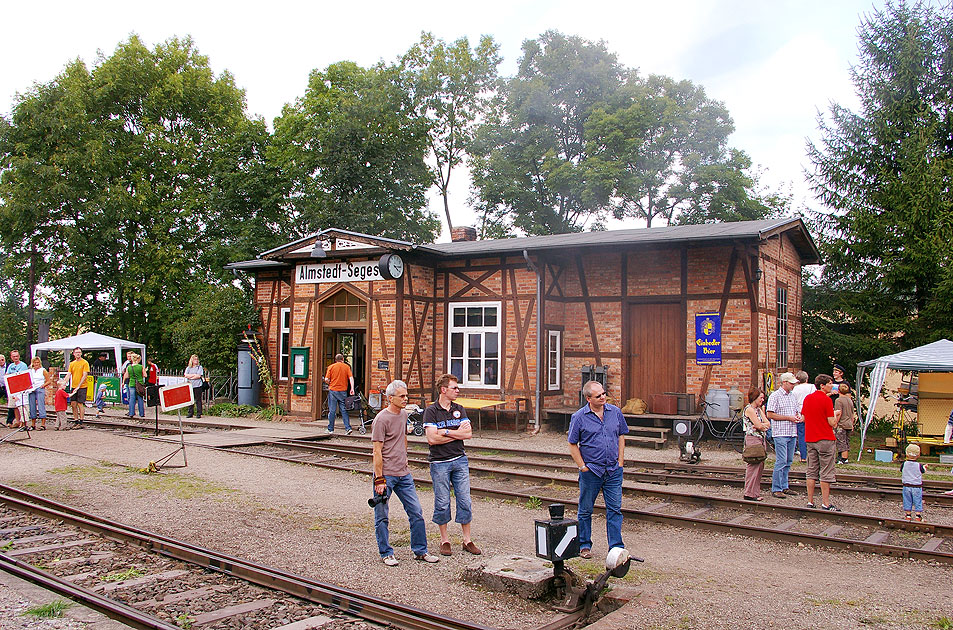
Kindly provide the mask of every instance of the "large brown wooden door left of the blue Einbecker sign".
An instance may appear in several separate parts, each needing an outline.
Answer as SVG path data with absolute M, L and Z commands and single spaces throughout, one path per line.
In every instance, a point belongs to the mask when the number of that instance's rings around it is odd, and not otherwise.
M 682 391 L 684 344 L 681 304 L 631 304 L 626 398 L 649 402 L 652 394 Z

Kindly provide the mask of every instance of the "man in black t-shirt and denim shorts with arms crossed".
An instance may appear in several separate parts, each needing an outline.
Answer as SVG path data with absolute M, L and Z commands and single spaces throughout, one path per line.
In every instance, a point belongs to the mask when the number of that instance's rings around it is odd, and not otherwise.
M 424 410 L 424 429 L 430 444 L 430 478 L 433 480 L 433 522 L 440 529 L 440 555 L 449 556 L 450 487 L 457 499 L 456 522 L 463 530 L 463 550 L 480 555 L 470 539 L 470 465 L 463 441 L 473 437 L 466 410 L 453 402 L 460 395 L 457 377 L 444 374 L 437 381 L 437 402 Z

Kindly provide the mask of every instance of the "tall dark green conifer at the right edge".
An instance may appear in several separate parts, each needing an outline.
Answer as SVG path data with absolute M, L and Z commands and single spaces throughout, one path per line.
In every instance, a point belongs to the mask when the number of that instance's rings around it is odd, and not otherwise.
M 826 259 L 805 328 L 912 347 L 953 335 L 953 10 L 888 2 L 862 20 L 860 99 L 811 143 L 812 220 Z

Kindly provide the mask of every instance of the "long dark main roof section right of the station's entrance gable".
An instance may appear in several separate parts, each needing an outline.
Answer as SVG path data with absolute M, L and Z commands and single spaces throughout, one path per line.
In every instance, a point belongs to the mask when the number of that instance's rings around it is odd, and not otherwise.
M 653 245 L 674 242 L 731 241 L 770 238 L 793 230 L 790 235 L 801 255 L 802 264 L 817 264 L 820 253 L 804 222 L 799 218 L 737 221 L 734 223 L 706 223 L 702 225 L 673 225 L 657 228 L 574 232 L 551 236 L 527 236 L 485 241 L 456 241 L 418 245 L 417 250 L 439 256 L 493 255 L 511 252 L 545 251 L 553 249 L 605 247 L 606 245 Z

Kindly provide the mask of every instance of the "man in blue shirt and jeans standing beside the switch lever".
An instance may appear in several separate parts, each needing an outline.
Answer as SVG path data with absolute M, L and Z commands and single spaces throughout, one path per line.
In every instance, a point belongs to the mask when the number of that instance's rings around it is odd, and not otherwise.
M 598 381 L 582 386 L 588 404 L 569 421 L 569 453 L 579 468 L 579 555 L 592 557 L 592 507 L 602 490 L 606 504 L 609 548 L 622 543 L 622 464 L 625 461 L 625 423 L 622 410 L 606 403 Z

